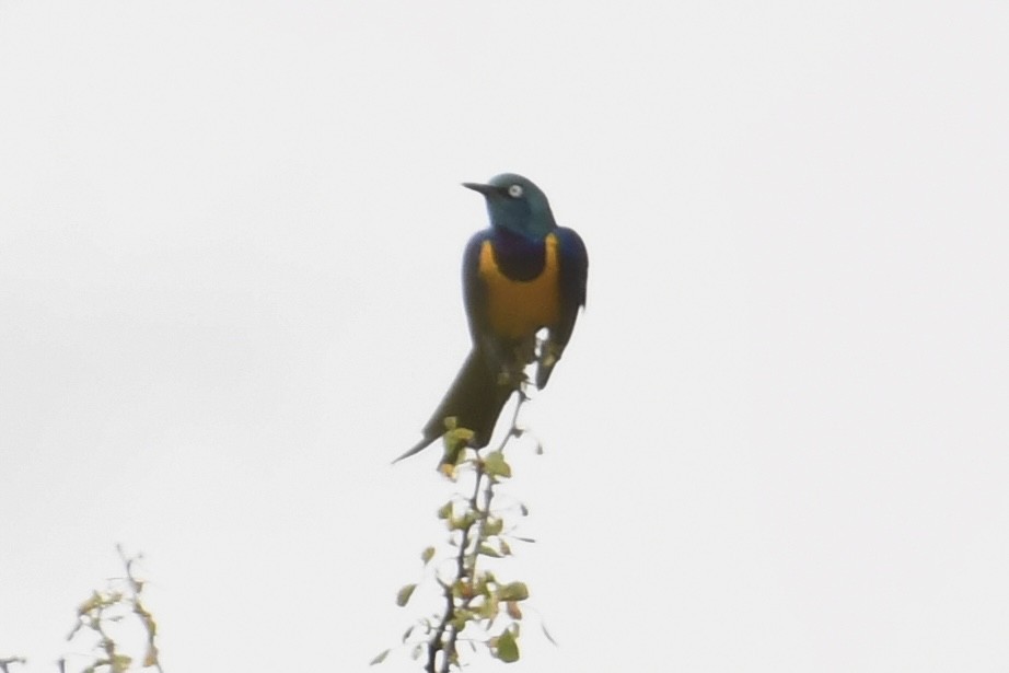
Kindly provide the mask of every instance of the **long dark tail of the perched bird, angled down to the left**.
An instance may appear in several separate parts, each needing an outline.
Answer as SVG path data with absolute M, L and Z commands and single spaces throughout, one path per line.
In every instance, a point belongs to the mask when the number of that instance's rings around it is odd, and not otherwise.
M 445 433 L 445 418 L 454 416 L 457 428 L 473 430 L 472 445 L 486 446 L 498 422 L 498 416 L 514 387 L 498 382 L 498 372 L 487 363 L 488 358 L 478 348 L 473 348 L 463 362 L 463 368 L 455 375 L 449 392 L 424 427 L 424 438 L 413 449 L 397 457 L 393 463 L 409 457 L 426 449 L 431 442 Z

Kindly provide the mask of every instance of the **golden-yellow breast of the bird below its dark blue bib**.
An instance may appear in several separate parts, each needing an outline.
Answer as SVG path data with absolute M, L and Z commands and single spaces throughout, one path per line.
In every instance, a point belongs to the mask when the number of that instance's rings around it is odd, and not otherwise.
M 543 272 L 531 280 L 512 280 L 494 259 L 489 241 L 480 247 L 480 277 L 487 286 L 487 315 L 494 332 L 506 338 L 525 338 L 557 323 L 560 313 L 557 239 L 548 234 Z

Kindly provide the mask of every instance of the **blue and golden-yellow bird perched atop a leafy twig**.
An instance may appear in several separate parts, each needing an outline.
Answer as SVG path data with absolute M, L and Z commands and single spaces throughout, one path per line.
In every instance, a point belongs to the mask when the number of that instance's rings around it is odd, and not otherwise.
M 557 225 L 540 187 L 514 173 L 463 186 L 484 196 L 490 219 L 463 254 L 463 300 L 473 345 L 420 441 L 394 463 L 442 437 L 450 418 L 453 427 L 473 432 L 468 445 L 486 446 L 534 360 L 535 385 L 546 386 L 585 305 L 585 245 L 573 230 Z M 544 328 L 537 353 L 536 334 Z

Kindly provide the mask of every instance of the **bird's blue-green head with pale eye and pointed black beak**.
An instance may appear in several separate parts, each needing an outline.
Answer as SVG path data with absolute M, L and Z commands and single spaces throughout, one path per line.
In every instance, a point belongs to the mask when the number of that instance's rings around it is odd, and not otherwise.
M 479 192 L 487 199 L 491 227 L 534 239 L 546 236 L 557 227 L 546 195 L 521 175 L 502 173 L 486 184 L 463 183 L 463 186 Z

